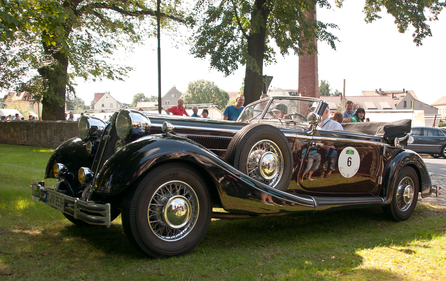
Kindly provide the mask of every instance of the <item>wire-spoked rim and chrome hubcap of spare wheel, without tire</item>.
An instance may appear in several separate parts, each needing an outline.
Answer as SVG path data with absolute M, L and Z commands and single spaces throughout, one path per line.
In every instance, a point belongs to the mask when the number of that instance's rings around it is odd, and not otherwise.
M 283 172 L 283 157 L 279 147 L 273 141 L 258 141 L 248 154 L 246 170 L 251 178 L 268 186 L 276 186 Z

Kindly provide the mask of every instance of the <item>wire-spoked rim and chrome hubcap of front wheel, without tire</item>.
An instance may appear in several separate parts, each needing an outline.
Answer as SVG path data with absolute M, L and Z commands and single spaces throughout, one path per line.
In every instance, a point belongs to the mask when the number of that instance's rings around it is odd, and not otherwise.
M 198 219 L 197 194 L 186 182 L 166 182 L 153 194 L 147 211 L 153 233 L 175 241 L 190 233 Z

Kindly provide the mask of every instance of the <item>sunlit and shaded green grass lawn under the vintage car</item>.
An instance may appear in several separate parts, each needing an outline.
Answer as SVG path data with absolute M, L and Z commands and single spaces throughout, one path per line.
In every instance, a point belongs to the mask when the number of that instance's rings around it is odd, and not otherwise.
M 30 199 L 52 149 L 0 151 L 1 280 L 446 280 L 446 210 L 424 202 L 402 223 L 380 208 L 213 220 L 189 255 L 151 259 L 120 217 L 109 229 L 77 227 Z

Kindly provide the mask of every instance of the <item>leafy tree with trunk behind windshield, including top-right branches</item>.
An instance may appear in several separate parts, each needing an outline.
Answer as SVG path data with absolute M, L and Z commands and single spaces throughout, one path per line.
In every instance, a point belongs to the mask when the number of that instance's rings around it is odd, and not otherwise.
M 341 7 L 343 1 L 335 2 Z M 395 17 L 400 32 L 412 25 L 413 41 L 419 45 L 423 38 L 431 36 L 426 21 L 437 20 L 445 5 L 440 0 L 365 0 L 363 11 L 365 20 L 371 22 L 380 18 L 378 12 L 387 10 Z M 226 75 L 244 65 L 245 103 L 253 102 L 264 83 L 264 62 L 274 62 L 272 41 L 282 55 L 290 51 L 314 54 L 314 39 L 335 48 L 337 37 L 327 29 L 336 25 L 307 17 L 316 6 L 330 8 L 327 0 L 200 0 L 195 6 L 195 45 L 191 51 L 198 58 L 209 57 L 211 67 Z

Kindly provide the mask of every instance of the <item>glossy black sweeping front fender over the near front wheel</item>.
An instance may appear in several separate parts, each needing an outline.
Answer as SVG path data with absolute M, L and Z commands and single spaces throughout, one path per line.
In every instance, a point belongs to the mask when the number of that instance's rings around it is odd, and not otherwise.
M 94 191 L 105 196 L 120 194 L 149 169 L 168 161 L 190 163 L 209 175 L 225 209 L 234 207 L 235 197 L 246 199 L 244 195 L 264 191 L 314 210 L 314 201 L 309 196 L 291 195 L 257 182 L 204 146 L 175 135 L 145 136 L 122 147 L 104 163 L 95 178 Z

